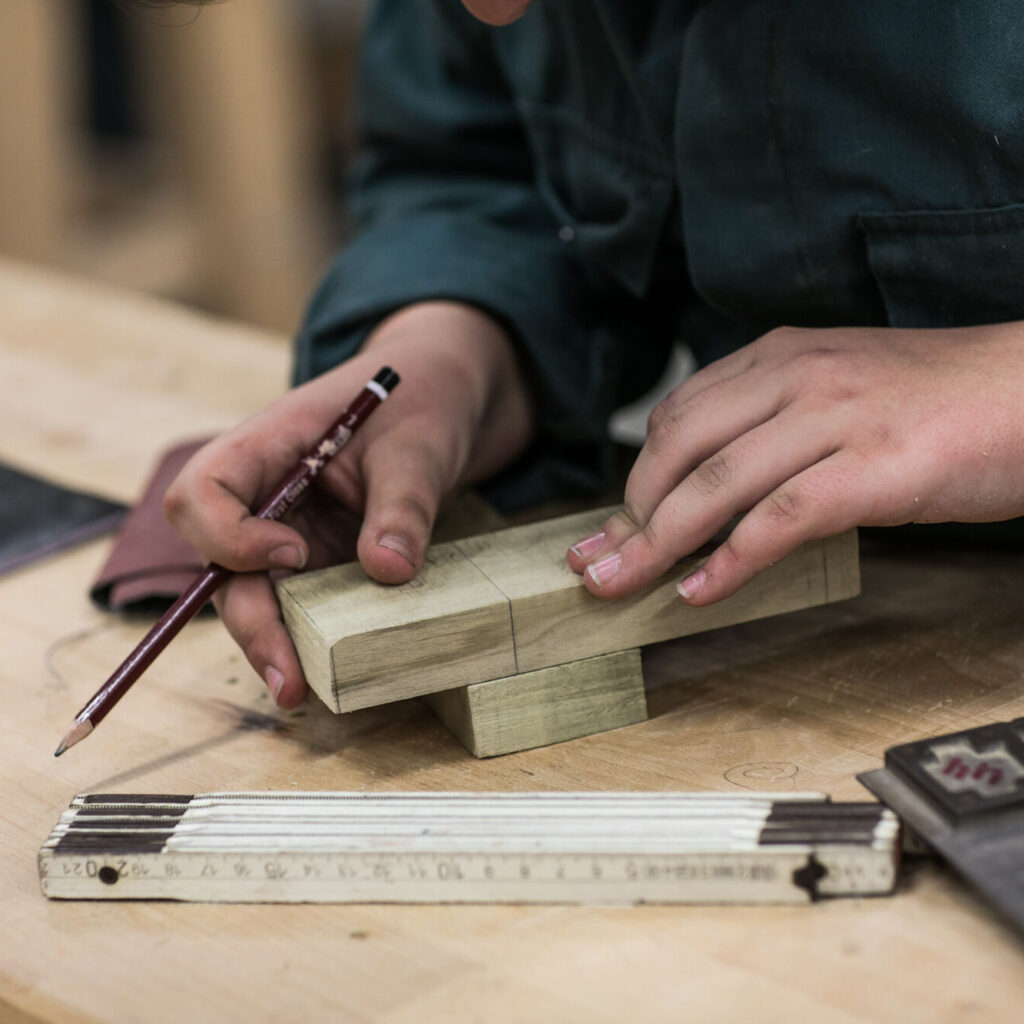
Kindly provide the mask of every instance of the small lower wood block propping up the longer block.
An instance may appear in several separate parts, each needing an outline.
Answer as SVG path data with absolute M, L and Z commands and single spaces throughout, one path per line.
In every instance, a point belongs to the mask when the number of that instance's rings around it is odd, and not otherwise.
M 431 693 L 424 699 L 478 758 L 547 746 L 647 719 L 638 647 Z

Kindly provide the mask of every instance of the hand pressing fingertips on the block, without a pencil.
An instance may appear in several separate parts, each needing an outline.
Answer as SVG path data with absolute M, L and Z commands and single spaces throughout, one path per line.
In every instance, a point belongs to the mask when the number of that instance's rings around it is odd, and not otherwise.
M 622 597 L 741 516 L 679 585 L 703 605 L 851 526 L 1024 514 L 1022 395 L 1022 324 L 773 331 L 654 410 L 623 511 L 569 564 Z

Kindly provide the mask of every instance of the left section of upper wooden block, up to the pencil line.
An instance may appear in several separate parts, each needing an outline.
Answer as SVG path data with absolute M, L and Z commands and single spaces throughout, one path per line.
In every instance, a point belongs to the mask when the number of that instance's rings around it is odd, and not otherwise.
M 516 671 L 507 598 L 451 544 L 401 587 L 353 563 L 284 580 L 278 596 L 306 680 L 336 712 Z

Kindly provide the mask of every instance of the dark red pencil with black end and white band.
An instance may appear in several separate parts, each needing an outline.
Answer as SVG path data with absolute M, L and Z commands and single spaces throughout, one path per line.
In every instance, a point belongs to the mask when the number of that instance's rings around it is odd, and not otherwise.
M 321 439 L 295 464 L 255 513 L 261 519 L 280 519 L 302 498 L 321 470 L 348 443 L 367 417 L 391 393 L 398 375 L 383 367 L 367 382 L 352 403 Z M 173 640 L 224 581 L 230 569 L 211 562 L 188 589 L 167 609 L 160 621 L 141 639 L 138 646 L 121 663 L 114 674 L 93 694 L 92 699 L 75 716 L 71 728 L 54 751 L 60 757 L 80 742 L 106 717 L 111 709 L 128 692 L 157 655 Z

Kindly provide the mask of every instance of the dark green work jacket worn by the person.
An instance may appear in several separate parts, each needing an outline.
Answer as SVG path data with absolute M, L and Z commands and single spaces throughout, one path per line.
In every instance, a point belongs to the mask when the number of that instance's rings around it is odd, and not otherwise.
M 508 505 L 598 486 L 674 339 L 1024 318 L 1022 54 L 1020 0 L 381 0 L 297 379 L 407 303 L 489 310 L 542 419 Z

